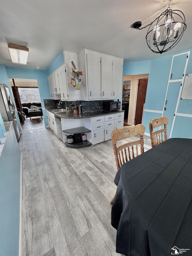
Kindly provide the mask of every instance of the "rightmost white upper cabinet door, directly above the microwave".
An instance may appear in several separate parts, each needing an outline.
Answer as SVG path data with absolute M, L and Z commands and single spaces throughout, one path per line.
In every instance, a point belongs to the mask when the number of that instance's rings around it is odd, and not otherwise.
M 122 98 L 123 59 L 113 59 L 112 98 Z

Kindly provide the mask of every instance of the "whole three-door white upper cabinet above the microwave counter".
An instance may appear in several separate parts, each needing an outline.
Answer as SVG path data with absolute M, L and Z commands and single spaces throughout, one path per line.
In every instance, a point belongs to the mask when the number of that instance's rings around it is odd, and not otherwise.
M 84 49 L 79 53 L 79 66 L 83 72 L 81 100 L 121 98 L 123 59 Z

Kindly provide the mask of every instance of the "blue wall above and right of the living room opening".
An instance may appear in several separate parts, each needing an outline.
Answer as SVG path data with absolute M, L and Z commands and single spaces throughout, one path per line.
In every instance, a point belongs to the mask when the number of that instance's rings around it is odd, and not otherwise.
M 6 71 L 8 78 L 37 79 L 42 108 L 45 107 L 44 99 L 50 99 L 47 71 L 12 67 L 6 67 Z M 46 110 L 43 110 L 43 115 L 45 117 L 45 125 L 47 126 Z

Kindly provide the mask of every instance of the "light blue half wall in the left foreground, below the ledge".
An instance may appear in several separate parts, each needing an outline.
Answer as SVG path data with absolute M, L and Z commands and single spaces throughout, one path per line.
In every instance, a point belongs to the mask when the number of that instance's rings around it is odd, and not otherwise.
M 0 157 L 0 255 L 19 255 L 21 154 L 13 125 Z

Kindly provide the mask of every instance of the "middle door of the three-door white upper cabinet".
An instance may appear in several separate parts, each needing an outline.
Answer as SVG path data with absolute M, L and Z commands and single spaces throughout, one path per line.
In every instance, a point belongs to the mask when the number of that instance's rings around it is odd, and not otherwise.
M 112 98 L 113 60 L 101 57 L 101 98 Z

